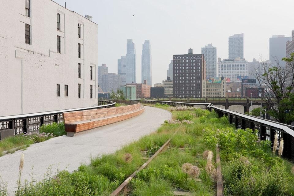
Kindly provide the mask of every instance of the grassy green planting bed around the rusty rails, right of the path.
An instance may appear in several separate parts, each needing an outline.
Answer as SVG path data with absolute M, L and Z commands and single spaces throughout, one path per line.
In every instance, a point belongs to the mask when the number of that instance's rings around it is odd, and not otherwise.
M 171 111 L 173 119 L 113 154 L 92 158 L 90 165 L 72 173 L 49 168 L 39 183 L 32 177 L 16 184 L 15 195 L 110 195 L 168 139 L 168 148 L 138 171 L 119 195 L 216 195 L 217 144 L 224 195 L 294 194 L 293 165 L 280 158 L 270 142 L 259 141 L 254 131 L 236 130 L 226 117 L 199 108 L 153 106 Z M 0 195 L 5 195 L 3 182 L 0 189 Z

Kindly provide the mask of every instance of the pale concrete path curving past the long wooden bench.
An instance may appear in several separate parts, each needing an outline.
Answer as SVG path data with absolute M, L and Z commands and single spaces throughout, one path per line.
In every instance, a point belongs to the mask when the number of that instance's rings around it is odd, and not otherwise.
M 31 167 L 36 180 L 43 179 L 49 165 L 73 171 L 81 163 L 89 164 L 90 158 L 101 154 L 114 153 L 123 145 L 136 141 L 155 131 L 164 120 L 171 119 L 169 111 L 145 106 L 145 111 L 136 117 L 92 129 L 74 137 L 60 136 L 33 144 L 24 151 L 17 151 L 0 157 L 0 176 L 7 182 L 8 190 L 15 190 L 21 154 L 25 164 L 21 180 L 30 179 Z

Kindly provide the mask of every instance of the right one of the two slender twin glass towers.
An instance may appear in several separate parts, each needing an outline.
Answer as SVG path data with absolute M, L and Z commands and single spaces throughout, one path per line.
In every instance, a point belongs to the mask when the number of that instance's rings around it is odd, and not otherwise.
M 152 85 L 151 75 L 151 45 L 150 40 L 145 40 L 142 47 L 142 61 L 141 61 L 141 81 L 147 81 L 147 85 Z M 135 82 L 135 81 L 134 81 Z

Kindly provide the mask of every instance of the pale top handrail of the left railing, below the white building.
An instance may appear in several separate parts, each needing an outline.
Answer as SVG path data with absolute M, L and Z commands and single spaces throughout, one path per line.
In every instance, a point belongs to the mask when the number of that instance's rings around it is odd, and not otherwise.
M 99 100 L 98 100 L 98 101 L 99 101 Z M 46 111 L 46 112 L 28 113 L 28 114 L 20 114 L 20 115 L 1 116 L 1 117 L 0 117 L 0 120 L 6 120 L 6 119 L 18 119 L 18 118 L 24 118 L 24 117 L 40 116 L 40 115 L 50 115 L 50 114 L 56 114 L 56 113 L 62 113 L 62 112 L 68 112 L 68 111 L 88 110 L 88 109 L 95 109 L 95 108 L 99 108 L 99 107 L 112 106 L 112 105 L 115 105 L 115 104 L 116 104 L 116 102 L 109 101 L 109 100 L 100 100 L 100 101 L 107 101 L 107 102 L 109 102 L 110 104 L 106 104 L 106 105 L 97 105 L 97 106 L 90 106 L 90 107 L 78 107 L 78 108 L 65 109 L 65 110 L 56 110 L 56 111 Z

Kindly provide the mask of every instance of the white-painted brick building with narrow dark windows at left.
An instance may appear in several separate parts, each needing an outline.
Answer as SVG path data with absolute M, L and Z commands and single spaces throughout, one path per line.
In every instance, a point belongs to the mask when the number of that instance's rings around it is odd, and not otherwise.
M 97 105 L 97 24 L 51 0 L 1 10 L 0 116 Z

